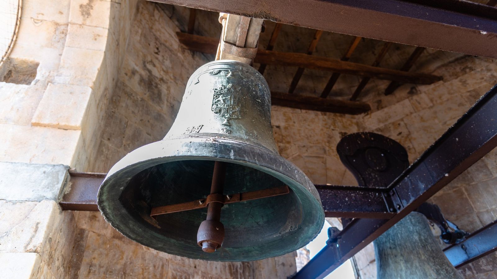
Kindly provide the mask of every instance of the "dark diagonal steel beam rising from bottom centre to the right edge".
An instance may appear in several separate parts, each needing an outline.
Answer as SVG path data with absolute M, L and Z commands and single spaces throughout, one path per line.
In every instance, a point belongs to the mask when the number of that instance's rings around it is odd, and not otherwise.
M 387 188 L 390 219 L 354 219 L 295 279 L 324 278 L 497 146 L 497 85 Z

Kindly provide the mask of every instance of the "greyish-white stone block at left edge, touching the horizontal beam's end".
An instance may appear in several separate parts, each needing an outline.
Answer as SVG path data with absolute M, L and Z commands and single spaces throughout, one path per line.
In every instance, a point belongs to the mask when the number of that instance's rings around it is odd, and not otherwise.
M 0 197 L 10 201 L 57 200 L 69 166 L 0 162 Z

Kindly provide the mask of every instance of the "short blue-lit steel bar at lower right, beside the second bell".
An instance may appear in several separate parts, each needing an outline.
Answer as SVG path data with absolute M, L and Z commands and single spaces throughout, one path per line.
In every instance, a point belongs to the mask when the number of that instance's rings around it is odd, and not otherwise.
M 497 220 L 466 236 L 443 252 L 454 267 L 459 268 L 497 251 Z

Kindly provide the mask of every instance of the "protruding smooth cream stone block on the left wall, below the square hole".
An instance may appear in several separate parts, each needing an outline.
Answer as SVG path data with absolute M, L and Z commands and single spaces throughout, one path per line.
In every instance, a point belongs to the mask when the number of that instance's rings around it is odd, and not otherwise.
M 31 124 L 81 130 L 91 92 L 88 86 L 49 83 Z

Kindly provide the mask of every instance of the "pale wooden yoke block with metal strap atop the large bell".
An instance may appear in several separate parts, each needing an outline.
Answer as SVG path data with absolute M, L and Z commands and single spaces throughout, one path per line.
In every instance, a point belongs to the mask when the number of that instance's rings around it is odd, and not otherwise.
M 223 25 L 223 31 L 216 60 L 230 59 L 252 65 L 257 53 L 262 22 L 259 18 L 219 13 L 219 23 Z

